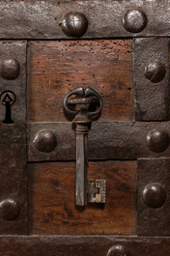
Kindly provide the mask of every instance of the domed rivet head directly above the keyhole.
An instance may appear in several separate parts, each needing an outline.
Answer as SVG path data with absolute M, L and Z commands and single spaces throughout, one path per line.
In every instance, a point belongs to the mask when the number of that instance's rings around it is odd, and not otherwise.
M 14 80 L 20 73 L 20 66 L 16 59 L 5 59 L 0 62 L 0 76 L 7 80 Z

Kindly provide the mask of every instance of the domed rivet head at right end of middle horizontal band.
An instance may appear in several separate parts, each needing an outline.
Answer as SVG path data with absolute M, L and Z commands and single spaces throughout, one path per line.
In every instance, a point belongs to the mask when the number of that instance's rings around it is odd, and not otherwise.
M 154 128 L 147 134 L 147 146 L 156 153 L 165 151 L 169 146 L 169 135 L 166 131 Z

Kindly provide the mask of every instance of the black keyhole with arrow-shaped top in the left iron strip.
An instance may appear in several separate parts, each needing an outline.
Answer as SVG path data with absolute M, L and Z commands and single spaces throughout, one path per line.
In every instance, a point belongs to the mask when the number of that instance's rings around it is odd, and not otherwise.
M 1 94 L 1 103 L 5 106 L 5 119 L 3 124 L 14 124 L 12 119 L 12 105 L 15 101 L 15 95 L 11 91 L 5 91 Z

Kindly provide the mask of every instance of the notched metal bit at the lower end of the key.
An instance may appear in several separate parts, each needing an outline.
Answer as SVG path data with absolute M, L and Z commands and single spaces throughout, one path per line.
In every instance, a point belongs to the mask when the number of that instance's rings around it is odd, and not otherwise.
M 106 180 L 88 180 L 88 203 L 105 203 L 106 185 Z

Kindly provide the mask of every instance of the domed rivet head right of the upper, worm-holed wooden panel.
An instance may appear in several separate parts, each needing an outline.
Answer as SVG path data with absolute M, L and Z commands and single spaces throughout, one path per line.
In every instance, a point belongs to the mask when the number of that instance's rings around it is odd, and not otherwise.
M 158 83 L 165 76 L 165 67 L 158 61 L 148 62 L 145 66 L 145 76 L 153 83 Z

